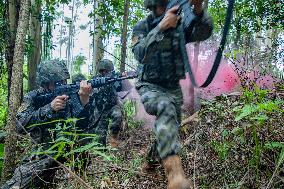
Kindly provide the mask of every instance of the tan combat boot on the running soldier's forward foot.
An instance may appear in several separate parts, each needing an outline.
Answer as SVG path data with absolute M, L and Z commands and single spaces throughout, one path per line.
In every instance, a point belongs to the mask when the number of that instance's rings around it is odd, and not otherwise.
M 167 189 L 191 189 L 192 184 L 186 179 L 181 165 L 181 159 L 177 155 L 163 159 L 163 166 L 168 178 Z

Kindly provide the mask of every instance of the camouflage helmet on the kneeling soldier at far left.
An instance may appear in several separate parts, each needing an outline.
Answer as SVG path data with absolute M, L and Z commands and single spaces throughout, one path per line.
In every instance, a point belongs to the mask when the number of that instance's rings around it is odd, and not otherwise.
M 49 82 L 58 82 L 69 78 L 66 63 L 63 60 L 47 60 L 38 65 L 36 80 L 41 86 Z

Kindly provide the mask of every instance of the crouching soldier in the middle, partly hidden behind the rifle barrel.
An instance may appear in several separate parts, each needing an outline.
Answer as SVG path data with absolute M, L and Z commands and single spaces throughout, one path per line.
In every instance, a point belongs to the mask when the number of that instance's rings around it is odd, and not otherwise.
M 97 74 L 97 76 L 112 77 L 114 74 L 113 63 L 107 59 L 101 60 L 97 66 Z M 95 125 L 94 133 L 100 136 L 102 144 L 106 144 L 107 133 L 110 130 L 108 142 L 112 147 L 117 147 L 119 144 L 119 131 L 123 122 L 122 104 L 116 92 L 119 86 L 116 83 L 103 86 L 98 90 L 95 89 L 92 96 L 95 111 L 91 122 Z

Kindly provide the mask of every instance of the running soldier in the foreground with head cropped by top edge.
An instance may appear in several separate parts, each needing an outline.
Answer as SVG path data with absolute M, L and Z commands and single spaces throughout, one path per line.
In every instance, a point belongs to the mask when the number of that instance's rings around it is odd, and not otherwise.
M 191 1 L 197 19 L 192 34 L 185 36 L 187 42 L 206 40 L 212 34 L 213 22 L 202 9 L 202 3 L 203 0 Z M 192 184 L 185 177 L 178 155 L 181 149 L 178 128 L 182 105 L 179 80 L 185 78 L 179 42 L 182 33 L 177 28 L 180 19 L 176 15 L 178 7 L 168 10 L 157 26 L 151 25 L 165 12 L 167 4 L 168 0 L 145 0 L 144 5 L 151 14 L 133 29 L 132 51 L 141 68 L 136 89 L 147 113 L 156 116 L 156 141 L 148 154 L 153 161 L 148 160 L 145 168 L 154 168 L 155 155 L 158 155 L 165 168 L 168 189 L 187 189 Z

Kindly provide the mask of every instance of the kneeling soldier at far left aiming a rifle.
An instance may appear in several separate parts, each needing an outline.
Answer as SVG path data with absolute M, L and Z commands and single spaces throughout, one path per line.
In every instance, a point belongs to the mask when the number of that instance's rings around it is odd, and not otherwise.
M 36 78 L 40 88 L 26 94 L 18 110 L 17 131 L 23 134 L 28 132 L 33 141 L 39 144 L 38 148 L 43 150 L 47 150 L 50 147 L 49 142 L 52 142 L 49 129 L 56 126 L 56 123 L 52 121 L 71 117 L 82 118 L 76 122 L 76 127 L 80 130 L 87 128 L 92 107 L 89 103 L 92 87 L 87 81 L 81 81 L 76 98 L 70 99 L 62 95 L 48 104 L 35 101 L 38 94 L 53 91 L 56 83 L 65 84 L 68 78 L 69 73 L 63 61 L 55 59 L 42 62 L 38 66 Z M 39 125 L 30 127 L 34 124 Z M 39 187 L 43 184 L 42 180 L 53 178 L 57 166 L 57 163 L 46 155 L 25 158 L 22 165 L 15 170 L 12 179 L 7 181 L 2 189 L 32 188 L 31 185 Z

